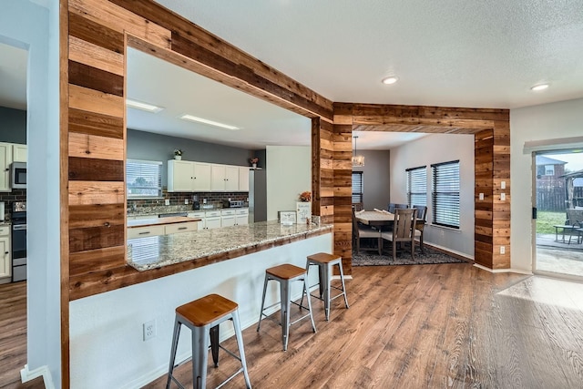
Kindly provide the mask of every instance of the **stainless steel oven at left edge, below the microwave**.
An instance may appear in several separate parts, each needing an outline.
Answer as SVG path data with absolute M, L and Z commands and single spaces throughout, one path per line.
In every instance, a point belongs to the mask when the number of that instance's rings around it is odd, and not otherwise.
M 26 202 L 12 203 L 12 282 L 26 280 Z

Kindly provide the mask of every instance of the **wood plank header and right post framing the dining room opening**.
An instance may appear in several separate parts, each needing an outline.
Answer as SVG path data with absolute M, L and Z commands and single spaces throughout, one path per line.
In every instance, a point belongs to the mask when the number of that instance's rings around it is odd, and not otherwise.
M 351 126 L 353 131 L 474 134 L 475 261 L 489 269 L 510 267 L 509 120 L 507 109 L 334 103 L 338 133 L 347 133 L 348 128 L 341 127 Z M 506 189 L 500 188 L 502 181 L 506 181 Z M 500 200 L 502 192 L 505 201 Z M 479 200 L 479 193 L 485 194 L 484 200 Z M 505 246 L 505 254 L 500 254 L 501 246 Z

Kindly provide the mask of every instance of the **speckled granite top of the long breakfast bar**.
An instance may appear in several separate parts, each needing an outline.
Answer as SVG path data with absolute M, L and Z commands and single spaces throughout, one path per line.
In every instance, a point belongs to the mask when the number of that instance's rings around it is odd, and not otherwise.
M 128 240 L 128 264 L 148 271 L 293 238 L 332 232 L 332 224 L 282 225 L 277 220 Z M 240 256 L 244 254 L 239 254 Z M 234 258 L 234 257 L 229 257 Z M 227 258 L 228 259 L 228 258 Z M 210 262 L 212 263 L 212 261 Z

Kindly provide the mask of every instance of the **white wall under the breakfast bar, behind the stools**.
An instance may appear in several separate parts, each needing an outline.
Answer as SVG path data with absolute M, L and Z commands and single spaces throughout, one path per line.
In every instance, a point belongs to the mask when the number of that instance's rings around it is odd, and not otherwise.
M 174 311 L 179 305 L 219 293 L 239 303 L 241 326 L 249 327 L 259 320 L 265 269 L 286 262 L 305 267 L 306 257 L 320 251 L 332 252 L 332 233 L 71 302 L 71 387 L 148 384 L 168 372 Z M 311 284 L 316 276 L 314 269 Z M 292 295 L 299 298 L 301 291 L 302 282 L 294 282 Z M 270 282 L 265 306 L 279 301 L 279 285 Z M 142 323 L 150 320 L 156 320 L 157 336 L 144 342 Z M 316 329 L 323 320 L 323 316 L 314 317 Z M 221 340 L 231 334 L 230 323 L 221 324 Z M 269 345 L 275 353 L 281 347 L 279 338 Z M 190 355 L 186 328 L 181 331 L 177 355 L 177 361 Z

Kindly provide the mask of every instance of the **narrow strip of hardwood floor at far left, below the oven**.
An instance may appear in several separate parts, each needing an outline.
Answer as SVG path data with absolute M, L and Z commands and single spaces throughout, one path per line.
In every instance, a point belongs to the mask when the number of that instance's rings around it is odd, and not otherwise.
M 20 383 L 26 364 L 26 282 L 0 285 L 0 388 L 45 388 L 42 378 Z

